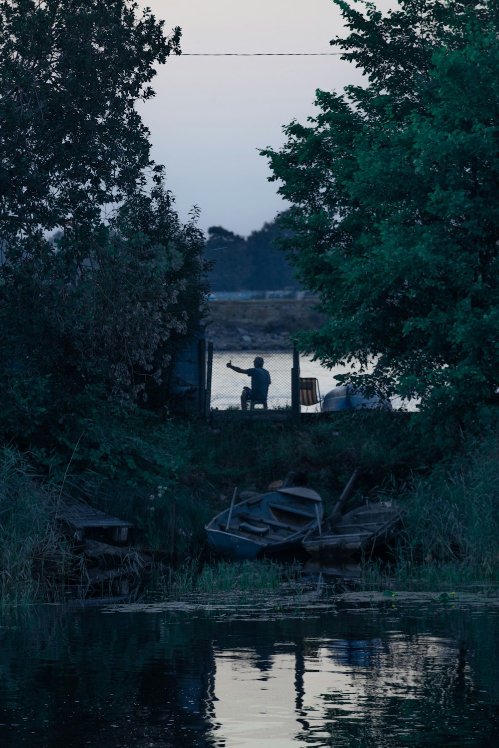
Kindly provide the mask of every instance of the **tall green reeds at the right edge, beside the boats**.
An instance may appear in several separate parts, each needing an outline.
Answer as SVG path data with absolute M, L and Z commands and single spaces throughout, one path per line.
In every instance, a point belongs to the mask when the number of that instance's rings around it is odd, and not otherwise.
M 391 562 L 365 560 L 363 583 L 397 589 L 499 587 L 499 438 L 468 438 L 387 497 L 406 506 Z

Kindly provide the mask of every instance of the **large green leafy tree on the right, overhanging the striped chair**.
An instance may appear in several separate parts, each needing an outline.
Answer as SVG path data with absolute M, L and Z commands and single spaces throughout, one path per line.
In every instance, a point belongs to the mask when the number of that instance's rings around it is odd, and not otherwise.
M 335 1 L 350 33 L 331 44 L 368 83 L 317 91 L 263 151 L 328 317 L 301 346 L 350 362 L 343 381 L 474 414 L 499 388 L 499 3 Z

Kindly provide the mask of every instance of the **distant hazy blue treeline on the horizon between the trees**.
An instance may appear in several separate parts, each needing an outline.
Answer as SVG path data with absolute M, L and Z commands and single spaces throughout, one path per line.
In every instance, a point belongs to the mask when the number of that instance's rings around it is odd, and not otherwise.
M 259 231 L 244 237 L 221 226 L 208 229 L 206 260 L 213 261 L 208 280 L 213 291 L 267 291 L 297 289 L 293 268 L 284 252 L 279 251 L 275 239 L 290 232 L 276 221 L 263 224 Z

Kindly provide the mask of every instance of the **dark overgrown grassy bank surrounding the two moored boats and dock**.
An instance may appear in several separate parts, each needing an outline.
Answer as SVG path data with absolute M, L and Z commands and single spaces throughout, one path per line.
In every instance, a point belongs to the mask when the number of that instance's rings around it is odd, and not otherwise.
M 235 421 L 215 431 L 184 420 L 152 423 L 140 434 L 132 426 L 129 431 L 118 439 L 126 459 L 130 445 L 135 450 L 128 469 L 125 460 L 117 464 L 112 449 L 103 453 L 100 473 L 96 456 L 86 467 L 91 444 L 85 440 L 79 458 L 64 472 L 58 463 L 55 476 L 35 472 L 33 456 L 3 451 L 4 602 L 64 596 L 77 560 L 52 521 L 61 496 L 84 499 L 132 522 L 133 544 L 174 569 L 163 579 L 165 594 L 186 586 L 224 589 L 242 579 L 243 588 L 273 584 L 274 567 L 254 566 L 242 574 L 240 568 L 232 572 L 227 565 L 210 565 L 206 521 L 227 506 L 233 488 L 265 491 L 290 470 L 303 473 L 307 485 L 319 491 L 327 513 L 358 466 L 364 475 L 349 506 L 394 497 L 407 508 L 405 533 L 388 564 L 369 562 L 362 583 L 398 589 L 499 585 L 499 438 L 493 426 L 480 438 L 459 434 L 451 446 L 448 435 L 447 441 L 429 438 L 409 414 L 368 411 L 338 414 L 300 429 Z M 239 582 L 230 582 L 231 574 Z M 254 575 L 252 583 L 248 574 Z

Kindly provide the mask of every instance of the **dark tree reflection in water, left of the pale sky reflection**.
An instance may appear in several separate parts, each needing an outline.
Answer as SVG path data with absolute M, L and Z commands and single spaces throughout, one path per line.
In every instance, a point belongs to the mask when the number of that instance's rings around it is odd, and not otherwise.
M 149 746 L 158 738 L 200 745 L 212 709 L 215 662 L 209 638 L 193 639 L 193 633 L 162 616 L 97 612 L 66 622 L 43 616 L 31 626 L 31 656 L 25 640 L 10 632 L 8 650 L 1 643 L 0 690 L 7 693 L 8 684 L 15 697 L 7 708 L 0 696 L 0 744 L 10 746 L 2 734 L 7 724 L 24 720 L 19 745 L 27 732 L 33 748 Z M 203 745 L 212 740 L 203 737 Z

